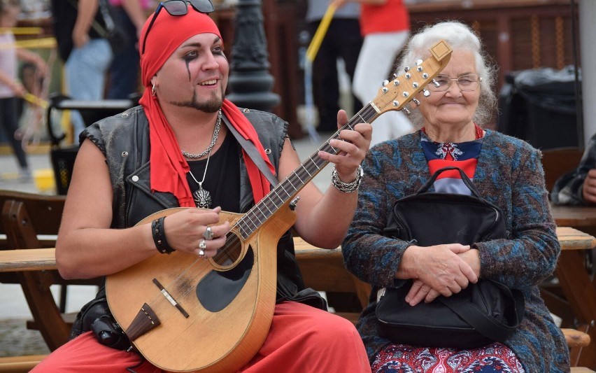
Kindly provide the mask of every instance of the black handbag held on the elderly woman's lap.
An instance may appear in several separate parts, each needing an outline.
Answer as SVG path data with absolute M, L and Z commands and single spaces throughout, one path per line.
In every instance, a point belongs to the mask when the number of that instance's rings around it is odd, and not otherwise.
M 428 192 L 437 176 L 450 169 L 459 171 L 471 195 Z M 383 233 L 418 246 L 507 237 L 501 209 L 483 199 L 457 167 L 439 169 L 416 194 L 395 202 Z M 460 293 L 414 307 L 405 301 L 411 285 L 396 280 L 394 287 L 378 290 L 378 332 L 394 343 L 471 349 L 504 342 L 523 319 L 523 294 L 497 281 L 478 280 Z

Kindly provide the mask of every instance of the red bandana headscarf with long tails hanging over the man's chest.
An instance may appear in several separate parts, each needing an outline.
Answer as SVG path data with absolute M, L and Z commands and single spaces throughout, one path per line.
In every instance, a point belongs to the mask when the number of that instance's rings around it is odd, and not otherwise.
M 185 157 L 180 152 L 176 136 L 174 136 L 162 108 L 157 102 L 157 97 L 151 94 L 151 78 L 161 69 L 176 48 L 188 38 L 203 33 L 215 34 L 221 38 L 220 31 L 215 22 L 211 20 L 211 17 L 195 11 L 191 6 L 188 7 L 188 13 L 180 16 L 169 15 L 166 10 L 162 9 L 155 22 L 153 22 L 148 37 L 145 39 L 148 25 L 153 17 L 151 15 L 145 22 L 139 38 L 141 41 L 146 40 L 145 53 L 141 54 L 141 78 L 145 86 L 145 92 L 139 103 L 145 109 L 149 119 L 151 190 L 173 193 L 182 207 L 195 206 L 186 180 L 186 174 L 190 167 L 188 167 Z M 139 47 L 142 50 L 143 45 L 139 45 Z M 255 144 L 271 172 L 275 173 L 275 169 L 269 162 L 253 125 L 227 99 L 223 102 L 222 111 L 241 136 Z M 250 185 L 253 188 L 253 197 L 255 202 L 259 202 L 270 190 L 269 181 L 259 171 L 253 160 L 250 160 L 244 150 L 242 153 L 248 169 Z M 171 177 L 172 174 L 176 177 Z

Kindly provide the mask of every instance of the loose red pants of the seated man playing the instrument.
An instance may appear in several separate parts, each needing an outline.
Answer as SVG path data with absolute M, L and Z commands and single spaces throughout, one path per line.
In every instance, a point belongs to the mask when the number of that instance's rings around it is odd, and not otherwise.
M 136 353 L 111 349 L 92 332 L 52 352 L 31 372 L 127 372 L 141 360 Z M 150 363 L 137 373 L 162 372 Z M 295 302 L 275 307 L 269 335 L 240 372 L 371 372 L 362 339 L 345 318 Z

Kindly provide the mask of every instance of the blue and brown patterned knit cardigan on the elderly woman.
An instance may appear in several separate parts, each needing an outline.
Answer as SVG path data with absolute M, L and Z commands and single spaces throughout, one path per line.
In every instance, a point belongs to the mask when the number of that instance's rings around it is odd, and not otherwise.
M 541 153 L 511 136 L 487 130 L 474 183 L 481 195 L 506 216 L 509 239 L 478 243 L 481 278 L 518 288 L 525 296 L 525 318 L 505 342 L 526 372 L 568 372 L 565 338 L 541 300 L 538 285 L 551 276 L 560 245 L 544 184 Z M 346 267 L 375 286 L 392 284 L 405 241 L 383 237 L 393 203 L 412 195 L 430 178 L 420 131 L 371 149 L 362 167 L 358 206 L 342 250 Z M 434 189 L 431 189 L 434 191 Z M 447 243 L 446 243 L 447 244 Z M 376 293 L 357 328 L 371 361 L 388 344 L 376 331 Z

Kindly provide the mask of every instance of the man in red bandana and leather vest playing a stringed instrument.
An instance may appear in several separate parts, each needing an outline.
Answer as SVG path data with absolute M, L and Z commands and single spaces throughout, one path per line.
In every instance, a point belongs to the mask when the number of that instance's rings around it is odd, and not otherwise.
M 229 62 L 220 31 L 202 13 L 213 10 L 209 6 L 197 0 L 160 3 L 139 38 L 146 87 L 141 105 L 81 134 L 56 243 L 57 267 L 65 279 L 109 276 L 173 251 L 213 258 L 234 224 L 220 222 L 222 211 L 247 213 L 261 199 L 278 196 L 279 190 L 270 191 L 299 169 L 287 122 L 225 99 Z M 347 122 L 346 112 L 339 111 L 337 119 Z M 335 170 L 324 194 L 306 181 L 297 193 L 293 228 L 309 243 L 336 248 L 345 236 L 371 130 L 367 123 L 343 129 L 329 141 L 332 153 L 321 150 L 320 159 L 313 160 L 332 162 Z M 187 209 L 137 224 L 178 206 Z M 237 371 L 369 372 L 354 326 L 325 311 L 318 293 L 304 288 L 292 242 L 288 230 L 270 250 L 277 264 L 271 326 L 257 353 Z M 204 290 L 218 291 L 210 286 Z M 101 286 L 78 314 L 72 339 L 34 371 L 162 372 L 127 351 L 129 346 Z M 203 348 L 196 346 L 197 353 Z

